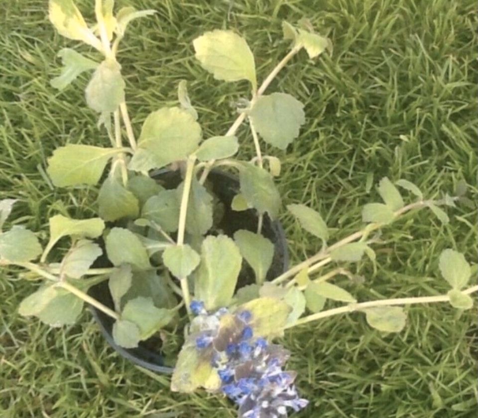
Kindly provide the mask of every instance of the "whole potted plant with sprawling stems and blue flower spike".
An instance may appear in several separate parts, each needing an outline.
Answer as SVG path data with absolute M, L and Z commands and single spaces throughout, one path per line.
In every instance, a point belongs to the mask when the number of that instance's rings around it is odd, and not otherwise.
M 449 221 L 441 206 L 454 206 L 461 193 L 426 198 L 404 179 L 381 179 L 383 202 L 365 205 L 363 227 L 338 240 L 331 239 L 316 210 L 288 205 L 304 233 L 323 243 L 320 251 L 289 268 L 277 223 L 281 196 L 274 177 L 280 161 L 262 154 L 261 141 L 286 149 L 299 136 L 305 114 L 292 95 L 266 89 L 293 56 L 305 50 L 314 59 L 332 49 L 330 40 L 306 21 L 298 28 L 284 22 L 290 50 L 258 85 L 254 57 L 243 38 L 229 30 L 202 34 L 193 41 L 199 64 L 217 80 L 248 81 L 250 99 L 241 103 L 224 135 L 203 139 L 198 112 L 180 83 L 179 106 L 154 109 L 136 138 L 117 52 L 128 24 L 154 11 L 125 7 L 115 15 L 113 7 L 114 1 L 96 0 L 97 24 L 90 27 L 72 0 L 49 1 L 57 31 L 93 47 L 100 57 L 95 61 L 61 50 L 62 72 L 52 85 L 65 88 L 79 74 L 93 71 L 86 101 L 98 113 L 111 147 L 66 144 L 48 161 L 56 187 L 101 184 L 98 216 L 54 215 L 44 245 L 21 226 L 0 234 L 0 264 L 25 268 L 31 278 L 42 280 L 21 302 L 20 314 L 51 326 L 72 324 L 86 302 L 121 354 L 172 372 L 172 390 L 203 388 L 229 397 L 240 417 L 272 418 L 308 403 L 294 386 L 294 372 L 285 370 L 291 353 L 273 342 L 286 330 L 358 312 L 371 327 L 391 333 L 404 328 L 406 305 L 472 307 L 470 295 L 478 286 L 467 286 L 476 266 L 451 249 L 439 259 L 451 287 L 447 294 L 358 302 L 331 283 L 339 275 L 354 278 L 345 263 L 365 256 L 374 263 L 375 233 L 404 215 L 428 209 L 443 223 Z M 233 159 L 239 129 L 250 130 L 251 160 Z M 410 192 L 410 203 L 397 186 Z M 0 227 L 14 203 L 0 202 Z M 341 305 L 324 309 L 328 300 Z M 168 361 L 172 368 L 165 367 Z

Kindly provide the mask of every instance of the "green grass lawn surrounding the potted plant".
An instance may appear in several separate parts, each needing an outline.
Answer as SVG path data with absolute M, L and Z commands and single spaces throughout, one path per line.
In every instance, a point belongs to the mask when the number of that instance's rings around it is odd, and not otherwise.
M 86 5 L 79 1 L 85 14 Z M 131 1 L 118 1 L 131 4 Z M 317 62 L 304 52 L 270 88 L 306 104 L 307 123 L 283 160 L 284 202 L 311 204 L 333 239 L 360 226 L 360 207 L 377 201 L 382 176 L 414 181 L 426 196 L 470 184 L 477 198 L 477 15 L 475 1 L 449 0 L 141 0 L 158 14 L 132 24 L 119 59 L 138 131 L 145 115 L 176 100 L 189 82 L 206 135 L 234 118 L 247 85 L 222 84 L 192 58 L 202 31 L 232 28 L 249 42 L 259 78 L 286 53 L 281 21 L 309 17 L 334 42 Z M 230 13 L 228 14 L 231 5 Z M 46 158 L 65 142 L 108 144 L 84 101 L 86 78 L 58 93 L 56 52 L 74 45 L 55 34 L 46 1 L 0 0 L 0 198 L 14 197 L 12 223 L 46 237 L 48 217 L 90 216 L 97 190 L 58 190 L 44 181 Z M 91 9 L 91 7 L 90 7 Z M 229 18 L 228 18 L 229 16 Z M 242 156 L 253 153 L 242 129 Z M 450 209 L 442 226 L 431 213 L 409 215 L 384 230 L 378 271 L 351 266 L 363 284 L 345 283 L 360 300 L 446 292 L 438 274 L 445 248 L 477 262 L 477 209 Z M 293 260 L 320 243 L 284 214 Z M 473 278 L 476 283 L 476 277 Z M 340 282 L 340 281 L 339 281 Z M 0 278 L 0 416 L 226 418 L 224 399 L 171 394 L 169 378 L 140 370 L 108 347 L 91 315 L 49 329 L 21 318 L 19 301 L 35 284 L 2 270 Z M 476 307 L 459 315 L 446 304 L 412 307 L 399 334 L 371 330 L 359 314 L 288 332 L 290 368 L 310 407 L 297 417 L 471 418 L 478 407 Z

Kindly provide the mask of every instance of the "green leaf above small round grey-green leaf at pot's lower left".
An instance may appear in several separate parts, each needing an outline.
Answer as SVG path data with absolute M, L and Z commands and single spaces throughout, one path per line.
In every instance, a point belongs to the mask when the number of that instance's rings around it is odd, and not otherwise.
M 152 298 L 137 297 L 128 301 L 121 313 L 121 319 L 136 324 L 140 339 L 147 339 L 164 328 L 173 319 L 169 309 L 156 308 Z

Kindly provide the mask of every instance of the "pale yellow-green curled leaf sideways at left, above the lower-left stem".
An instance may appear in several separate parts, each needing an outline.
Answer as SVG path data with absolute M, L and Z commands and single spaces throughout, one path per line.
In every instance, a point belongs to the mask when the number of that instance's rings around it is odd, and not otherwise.
M 105 229 L 105 222 L 100 218 L 71 219 L 63 215 L 50 218 L 50 241 L 48 247 L 58 242 L 62 237 L 98 238 Z

